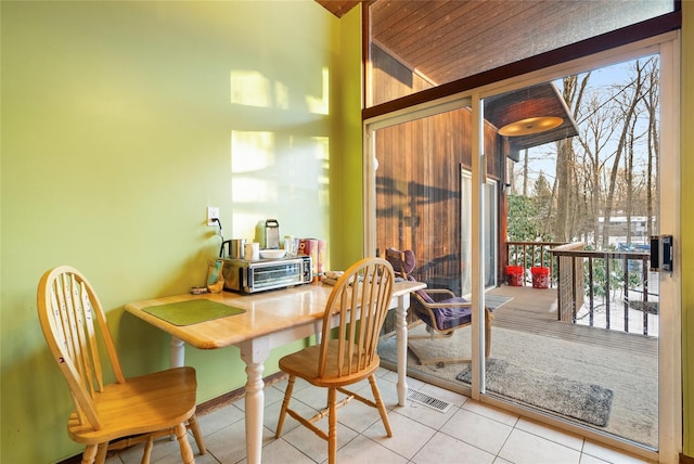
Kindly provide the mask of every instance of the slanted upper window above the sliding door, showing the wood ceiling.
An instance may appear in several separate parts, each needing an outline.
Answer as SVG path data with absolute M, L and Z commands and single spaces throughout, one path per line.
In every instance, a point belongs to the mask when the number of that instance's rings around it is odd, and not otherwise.
M 672 11 L 672 0 L 378 0 L 369 9 L 368 104 L 388 102 Z

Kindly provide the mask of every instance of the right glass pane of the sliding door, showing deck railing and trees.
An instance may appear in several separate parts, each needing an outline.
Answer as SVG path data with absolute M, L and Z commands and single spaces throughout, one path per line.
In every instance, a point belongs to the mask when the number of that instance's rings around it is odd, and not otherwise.
M 484 99 L 507 147 L 488 396 L 657 449 L 659 57 Z M 568 109 L 568 111 L 567 111 Z M 520 279 L 514 279 L 515 272 Z

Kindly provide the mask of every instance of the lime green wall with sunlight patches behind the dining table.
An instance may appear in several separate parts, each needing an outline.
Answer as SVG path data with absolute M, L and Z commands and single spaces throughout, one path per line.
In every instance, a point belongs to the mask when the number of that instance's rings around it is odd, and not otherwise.
M 0 8 L 0 461 L 49 463 L 81 447 L 36 317 L 47 269 L 90 278 L 137 375 L 168 365 L 168 337 L 123 306 L 204 284 L 220 245 L 207 206 L 226 239 L 277 218 L 281 234 L 327 239 L 334 269 L 361 256 L 361 204 L 340 203 L 361 195 L 344 181 L 361 145 L 340 146 L 361 133 L 360 82 L 340 76 L 360 66 L 340 55 L 361 28 L 359 9 L 340 21 L 313 1 Z M 187 364 L 201 402 L 245 382 L 234 347 L 188 349 Z

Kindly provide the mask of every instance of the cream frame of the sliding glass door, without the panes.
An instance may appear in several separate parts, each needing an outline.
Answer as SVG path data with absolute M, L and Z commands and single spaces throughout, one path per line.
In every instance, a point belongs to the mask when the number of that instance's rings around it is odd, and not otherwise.
M 668 182 L 660 183 L 660 233 L 674 237 L 674 269 L 671 275 L 660 276 L 661 294 L 671 298 L 660 299 L 661 322 L 658 348 L 658 450 L 652 452 L 622 440 L 602 434 L 571 426 L 551 417 L 537 414 L 537 418 L 551 425 L 578 433 L 596 441 L 644 455 L 647 459 L 676 462 L 682 450 L 682 387 L 681 387 L 681 260 L 678 259 L 680 243 L 680 34 L 664 34 L 639 42 L 622 46 L 575 61 L 550 66 L 549 68 L 529 73 L 524 76 L 494 82 L 471 91 L 460 92 L 428 103 L 399 109 L 397 112 L 363 120 L 363 217 L 364 217 L 364 256 L 375 252 L 375 131 L 408 120 L 426 117 L 471 106 L 473 114 L 472 131 L 472 266 L 479 272 L 473 273 L 472 302 L 472 398 L 480 402 L 499 405 L 513 412 L 524 413 L 526 410 L 515 409 L 512 404 L 485 395 L 484 363 L 484 184 L 486 183 L 486 159 L 483 150 L 484 99 L 514 89 L 529 87 L 550 81 L 566 75 L 579 74 L 589 69 L 607 66 L 613 63 L 634 60 L 648 54 L 660 55 L 660 176 Z M 475 188 L 477 186 L 477 188 Z

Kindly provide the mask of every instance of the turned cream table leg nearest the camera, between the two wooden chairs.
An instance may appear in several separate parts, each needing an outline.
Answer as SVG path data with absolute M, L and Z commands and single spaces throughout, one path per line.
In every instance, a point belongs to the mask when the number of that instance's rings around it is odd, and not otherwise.
M 262 388 L 262 363 L 270 355 L 267 338 L 255 338 L 240 345 L 241 359 L 246 363 L 246 462 L 260 464 L 262 452 L 262 408 L 265 394 Z

